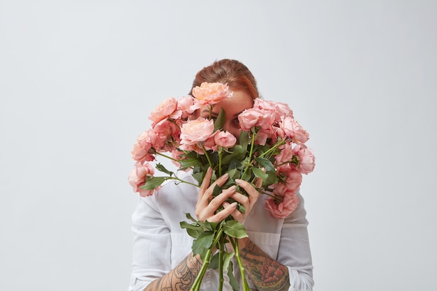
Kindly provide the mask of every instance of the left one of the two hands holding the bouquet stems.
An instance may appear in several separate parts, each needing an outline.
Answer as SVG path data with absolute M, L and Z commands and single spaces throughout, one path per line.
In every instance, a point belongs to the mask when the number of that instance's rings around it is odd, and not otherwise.
M 224 174 L 213 184 L 211 184 L 211 186 L 209 186 L 211 183 L 211 177 L 212 168 L 209 167 L 207 173 L 205 174 L 205 178 L 200 185 L 198 203 L 195 205 L 195 215 L 199 221 L 219 223 L 236 210 L 237 202 L 233 202 L 231 204 L 228 203 L 226 205 L 223 204 L 228 197 L 231 197 L 236 193 L 235 186 L 231 186 L 228 189 L 223 190 L 220 194 L 213 198 L 212 193 L 214 191 L 214 187 L 216 185 L 219 187 L 223 186 L 223 184 L 225 184 L 225 182 L 228 180 L 228 174 Z M 221 205 L 223 205 L 224 209 L 216 213 L 216 210 Z

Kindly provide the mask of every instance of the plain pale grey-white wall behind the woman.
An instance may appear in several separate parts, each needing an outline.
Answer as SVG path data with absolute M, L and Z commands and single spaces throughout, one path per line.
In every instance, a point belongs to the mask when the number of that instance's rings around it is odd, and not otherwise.
M 131 147 L 216 59 L 309 131 L 317 291 L 436 290 L 437 2 L 0 1 L 0 290 L 126 290 Z

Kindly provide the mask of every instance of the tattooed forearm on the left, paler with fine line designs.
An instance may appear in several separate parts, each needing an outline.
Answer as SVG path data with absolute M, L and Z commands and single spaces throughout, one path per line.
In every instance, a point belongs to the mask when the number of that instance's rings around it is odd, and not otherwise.
M 193 257 L 193 254 L 188 255 L 175 269 L 147 285 L 144 291 L 189 290 L 194 283 L 195 277 L 198 276 L 201 267 L 202 260 L 200 260 L 198 255 L 195 257 Z

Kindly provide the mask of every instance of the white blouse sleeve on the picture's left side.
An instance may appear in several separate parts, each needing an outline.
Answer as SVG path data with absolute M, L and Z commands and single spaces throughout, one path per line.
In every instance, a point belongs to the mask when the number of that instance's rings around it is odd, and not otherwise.
M 170 271 L 170 230 L 154 195 L 140 198 L 132 223 L 133 262 L 128 290 L 140 291 Z

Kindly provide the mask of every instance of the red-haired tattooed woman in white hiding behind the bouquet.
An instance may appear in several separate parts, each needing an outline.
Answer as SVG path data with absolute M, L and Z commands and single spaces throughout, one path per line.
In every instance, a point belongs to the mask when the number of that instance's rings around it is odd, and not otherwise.
M 226 112 L 223 128 L 239 137 L 238 114 L 253 106 L 259 97 L 255 78 L 239 61 L 223 59 L 200 70 L 193 87 L 202 82 L 228 84 L 232 98 L 214 105 L 212 117 L 221 108 Z M 198 116 L 207 117 L 209 110 L 200 108 Z M 192 238 L 179 222 L 186 213 L 195 214 L 198 221 L 219 222 L 226 216 L 244 224 L 248 238 L 239 239 L 239 253 L 249 276 L 251 290 L 312 290 L 312 263 L 307 232 L 308 222 L 304 200 L 285 219 L 272 218 L 263 207 L 267 195 L 259 195 L 251 184 L 236 180 L 249 197 L 235 192 L 234 187 L 212 197 L 214 186 L 222 186 L 225 174 L 209 186 L 212 172 L 205 175 L 200 188 L 189 184 L 167 183 L 148 197 L 141 197 L 133 218 L 133 271 L 129 290 L 189 290 L 202 266 L 199 255 L 191 253 Z M 182 179 L 196 183 L 189 173 Z M 242 214 L 232 197 L 244 205 Z M 223 205 L 222 211 L 216 210 Z M 238 271 L 236 271 L 238 273 Z M 239 276 L 239 274 L 235 274 Z M 201 290 L 217 290 L 218 272 L 208 269 Z M 232 290 L 225 280 L 223 290 Z

